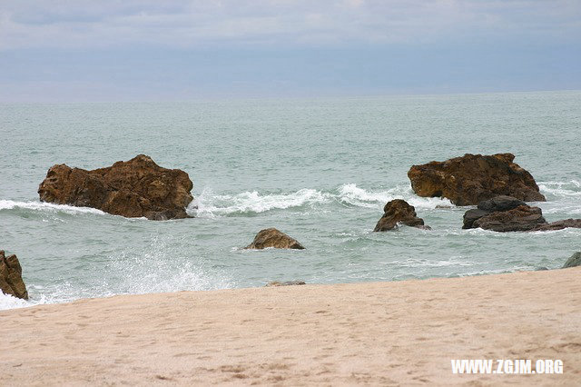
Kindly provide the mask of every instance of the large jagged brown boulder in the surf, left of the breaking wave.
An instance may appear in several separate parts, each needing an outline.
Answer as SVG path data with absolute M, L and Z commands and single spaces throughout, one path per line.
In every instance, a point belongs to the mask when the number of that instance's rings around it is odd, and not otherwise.
M 128 162 L 86 171 L 52 166 L 38 187 L 40 200 L 93 207 L 105 213 L 152 220 L 188 217 L 192 181 L 179 169 L 162 168 L 140 154 Z

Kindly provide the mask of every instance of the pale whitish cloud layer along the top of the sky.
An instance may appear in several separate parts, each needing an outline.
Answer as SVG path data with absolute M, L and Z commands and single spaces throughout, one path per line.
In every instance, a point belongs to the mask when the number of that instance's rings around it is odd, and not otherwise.
M 576 0 L 0 0 L 0 49 L 563 41 L 579 20 Z

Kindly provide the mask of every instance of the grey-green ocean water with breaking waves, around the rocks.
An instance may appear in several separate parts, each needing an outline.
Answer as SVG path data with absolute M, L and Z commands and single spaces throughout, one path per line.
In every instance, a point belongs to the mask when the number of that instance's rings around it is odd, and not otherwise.
M 581 218 L 581 92 L 0 104 L 0 249 L 30 301 L 306 283 L 400 281 L 561 267 L 581 229 L 462 230 L 446 199 L 410 188 L 412 164 L 512 153 L 547 196 L 548 222 Z M 125 219 L 41 203 L 53 164 L 85 169 L 147 154 L 187 172 L 192 219 Z M 373 233 L 389 200 L 432 231 Z M 247 251 L 276 227 L 301 251 Z

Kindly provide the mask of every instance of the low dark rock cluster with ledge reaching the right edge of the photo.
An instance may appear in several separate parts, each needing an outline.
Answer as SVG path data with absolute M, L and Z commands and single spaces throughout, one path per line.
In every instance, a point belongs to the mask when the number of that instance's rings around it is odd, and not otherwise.
M 462 228 L 482 228 L 500 233 L 512 231 L 551 231 L 566 227 L 581 228 L 581 219 L 547 223 L 538 207 L 531 207 L 514 197 L 497 196 L 478 203 L 478 208 L 464 213 Z

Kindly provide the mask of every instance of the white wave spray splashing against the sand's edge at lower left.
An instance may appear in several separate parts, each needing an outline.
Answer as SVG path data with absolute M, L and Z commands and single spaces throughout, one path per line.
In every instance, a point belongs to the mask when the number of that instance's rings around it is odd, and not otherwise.
M 152 237 L 143 248 L 127 248 L 77 267 L 70 277 L 40 286 L 27 283 L 30 300 L 0 292 L 0 310 L 116 294 L 206 291 L 235 287 L 230 276 L 172 235 Z M 91 275 L 86 273 L 99 273 Z

